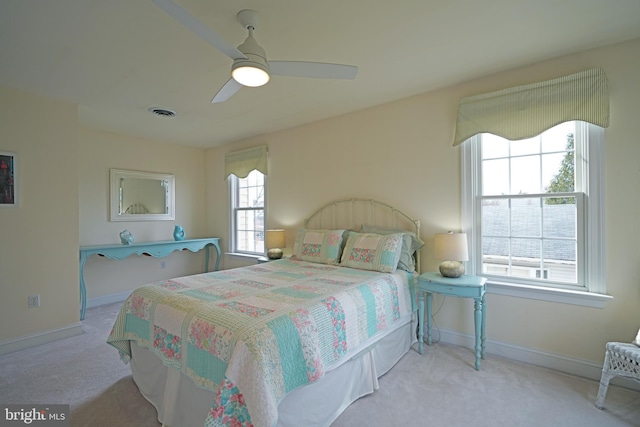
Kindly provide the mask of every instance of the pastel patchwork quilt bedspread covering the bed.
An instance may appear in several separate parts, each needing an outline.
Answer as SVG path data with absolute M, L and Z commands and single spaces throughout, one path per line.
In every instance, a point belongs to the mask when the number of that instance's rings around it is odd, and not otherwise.
M 205 426 L 272 426 L 289 391 L 415 311 L 414 281 L 295 260 L 164 280 L 129 296 L 107 342 L 216 393 Z

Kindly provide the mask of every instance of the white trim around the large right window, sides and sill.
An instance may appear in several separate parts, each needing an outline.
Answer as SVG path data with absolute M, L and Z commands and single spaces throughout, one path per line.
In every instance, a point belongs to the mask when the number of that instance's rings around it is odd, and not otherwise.
M 604 129 L 587 123 L 583 125 L 581 131 L 588 131 L 589 134 L 582 151 L 591 161 L 587 165 L 584 158 L 576 158 L 576 167 L 590 167 L 588 181 L 582 183 L 584 192 L 589 195 L 584 230 L 589 239 L 585 253 L 588 291 L 529 286 L 509 283 L 507 278 L 491 278 L 487 286 L 489 293 L 595 308 L 603 308 L 606 301 L 613 299 L 606 295 Z M 480 200 L 475 197 L 479 194 L 480 180 L 474 179 L 478 176 L 480 165 L 479 136 L 473 136 L 462 144 L 461 163 L 462 231 L 467 233 L 470 249 L 465 268 L 467 274 L 476 275 L 477 254 L 481 253 L 480 239 L 474 234 L 474 230 L 480 229 L 480 215 L 477 215 Z

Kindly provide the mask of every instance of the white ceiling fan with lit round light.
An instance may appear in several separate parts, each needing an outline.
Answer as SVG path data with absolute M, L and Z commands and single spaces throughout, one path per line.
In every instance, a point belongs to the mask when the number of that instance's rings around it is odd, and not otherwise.
M 231 98 L 242 86 L 257 87 L 266 84 L 271 75 L 320 79 L 353 79 L 358 73 L 358 67 L 353 65 L 328 64 L 324 62 L 267 61 L 264 49 L 253 38 L 253 31 L 260 22 L 260 15 L 254 10 L 241 10 L 236 16 L 238 22 L 249 31 L 249 36 L 244 43 L 236 49 L 172 0 L 152 1 L 176 21 L 233 59 L 233 65 L 231 66 L 232 77 L 213 97 L 211 102 L 214 104 Z

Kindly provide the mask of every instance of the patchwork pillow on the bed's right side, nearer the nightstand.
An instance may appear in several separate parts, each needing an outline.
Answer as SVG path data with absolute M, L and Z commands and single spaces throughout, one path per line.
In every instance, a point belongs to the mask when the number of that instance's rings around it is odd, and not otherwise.
M 351 231 L 347 237 L 340 265 L 393 273 L 398 268 L 402 241 L 401 233 L 383 236 Z

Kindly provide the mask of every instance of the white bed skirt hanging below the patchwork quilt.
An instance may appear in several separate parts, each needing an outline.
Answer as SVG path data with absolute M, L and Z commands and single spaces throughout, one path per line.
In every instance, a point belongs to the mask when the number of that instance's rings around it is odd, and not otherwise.
M 406 319 L 375 345 L 299 387 L 278 405 L 280 427 L 329 426 L 351 403 L 378 389 L 378 378 L 416 342 L 416 321 Z M 202 427 L 215 393 L 196 387 L 176 369 L 165 367 L 149 350 L 131 343 L 131 372 L 140 393 L 155 406 L 165 427 Z

